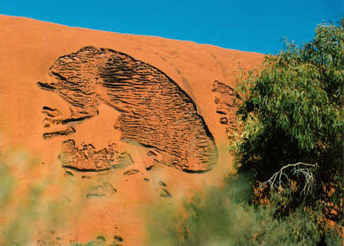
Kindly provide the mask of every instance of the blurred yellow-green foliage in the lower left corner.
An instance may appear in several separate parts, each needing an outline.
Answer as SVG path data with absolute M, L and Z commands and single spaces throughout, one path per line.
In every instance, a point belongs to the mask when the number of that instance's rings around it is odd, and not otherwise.
M 40 165 L 37 158 L 25 152 L 0 153 L 0 246 L 120 246 L 116 242 L 105 243 L 104 236 L 83 244 L 65 243 L 54 234 L 53 229 L 68 223 L 68 215 L 80 207 L 75 201 L 73 209 L 66 206 L 70 182 L 61 183 L 54 172 L 40 176 Z M 51 196 L 55 189 L 50 188 L 56 187 L 55 181 L 63 196 Z

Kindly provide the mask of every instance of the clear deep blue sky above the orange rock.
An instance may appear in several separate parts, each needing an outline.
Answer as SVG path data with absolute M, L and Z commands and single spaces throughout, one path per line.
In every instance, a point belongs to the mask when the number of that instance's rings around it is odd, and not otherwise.
M 340 20 L 342 0 L 0 0 L 0 14 L 276 54 L 279 39 L 310 41 L 317 23 Z

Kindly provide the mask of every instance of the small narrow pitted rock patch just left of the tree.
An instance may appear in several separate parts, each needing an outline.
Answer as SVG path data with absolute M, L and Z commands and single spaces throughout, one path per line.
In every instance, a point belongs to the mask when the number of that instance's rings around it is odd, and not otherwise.
M 219 122 L 226 125 L 226 134 L 231 138 L 231 134 L 237 131 L 236 101 L 239 95 L 229 85 L 219 81 L 214 81 L 212 91 L 215 94 L 215 105 L 217 114 L 221 115 Z

